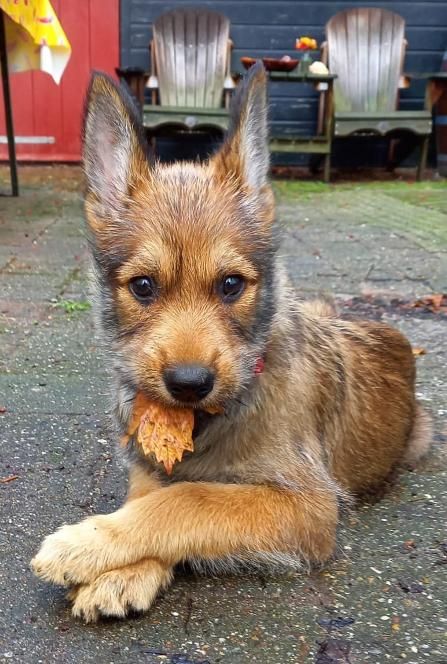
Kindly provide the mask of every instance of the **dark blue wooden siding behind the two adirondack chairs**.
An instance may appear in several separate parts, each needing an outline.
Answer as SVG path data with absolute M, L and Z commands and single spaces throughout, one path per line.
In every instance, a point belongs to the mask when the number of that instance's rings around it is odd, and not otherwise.
M 438 71 L 447 48 L 447 2 L 337 2 L 335 0 L 121 0 L 121 64 L 149 66 L 147 45 L 151 23 L 160 13 L 179 6 L 207 6 L 221 11 L 231 21 L 235 49 L 233 69 L 241 70 L 241 55 L 296 55 L 295 38 L 311 35 L 319 42 L 324 25 L 335 13 L 356 6 L 384 7 L 406 20 L 409 42 L 407 72 Z M 422 108 L 424 83 L 417 81 L 401 95 L 401 108 Z M 316 123 L 316 94 L 309 86 L 271 84 L 271 121 L 274 135 L 309 134 Z

